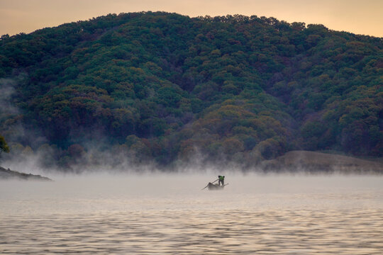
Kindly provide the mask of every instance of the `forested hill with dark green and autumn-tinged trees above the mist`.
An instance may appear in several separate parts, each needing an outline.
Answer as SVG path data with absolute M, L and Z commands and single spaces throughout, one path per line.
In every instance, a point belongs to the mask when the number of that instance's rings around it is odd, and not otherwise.
M 383 40 L 322 25 L 108 15 L 3 35 L 0 77 L 0 134 L 47 165 L 383 156 Z

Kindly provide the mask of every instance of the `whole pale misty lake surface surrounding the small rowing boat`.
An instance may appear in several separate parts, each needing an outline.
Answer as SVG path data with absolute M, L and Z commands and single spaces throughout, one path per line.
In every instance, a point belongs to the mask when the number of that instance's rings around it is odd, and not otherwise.
M 0 181 L 0 254 L 383 254 L 382 176 L 225 175 Z

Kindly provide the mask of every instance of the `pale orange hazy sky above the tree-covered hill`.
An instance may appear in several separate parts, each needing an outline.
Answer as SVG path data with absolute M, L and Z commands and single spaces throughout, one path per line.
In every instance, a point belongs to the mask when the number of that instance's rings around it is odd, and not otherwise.
M 321 23 L 333 30 L 383 37 L 383 0 L 0 0 L 0 35 L 133 11 L 191 17 L 272 16 L 289 23 Z

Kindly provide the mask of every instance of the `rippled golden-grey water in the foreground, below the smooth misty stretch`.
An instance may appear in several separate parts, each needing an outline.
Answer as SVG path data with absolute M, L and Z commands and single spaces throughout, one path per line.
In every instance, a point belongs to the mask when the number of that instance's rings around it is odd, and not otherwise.
M 382 254 L 383 210 L 1 217 L 1 254 Z

